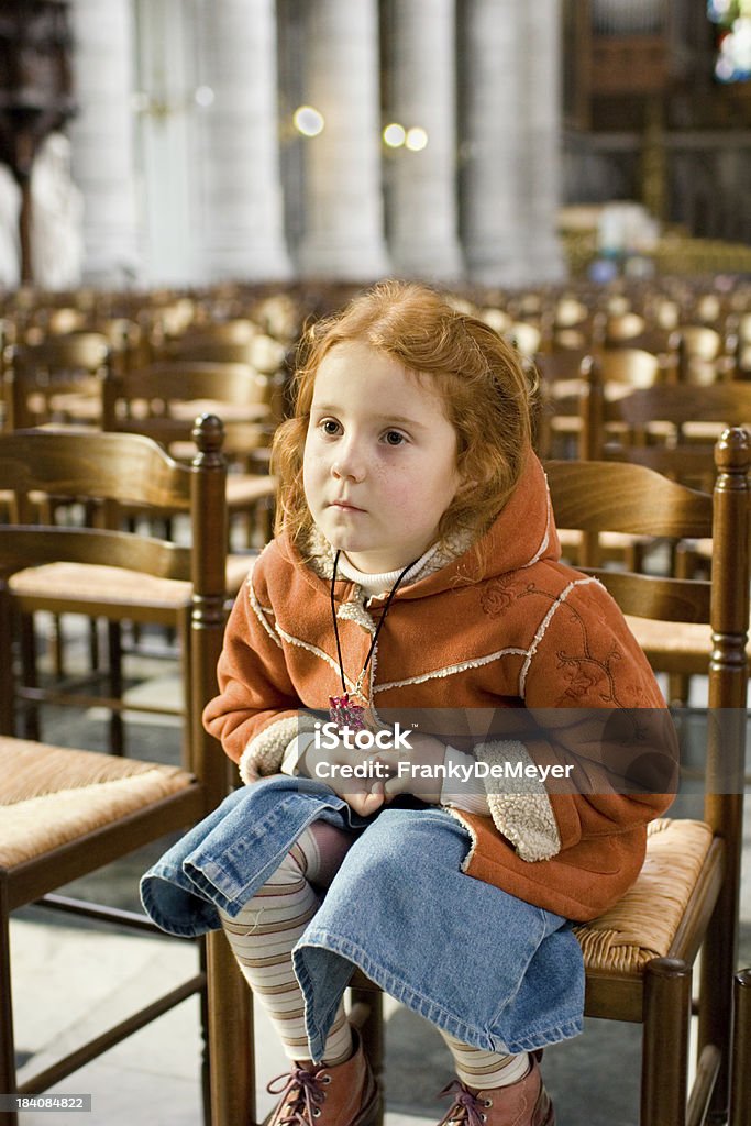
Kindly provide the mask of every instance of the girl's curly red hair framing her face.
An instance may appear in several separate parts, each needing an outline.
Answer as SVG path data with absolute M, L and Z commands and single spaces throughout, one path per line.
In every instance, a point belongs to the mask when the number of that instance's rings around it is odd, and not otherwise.
M 275 435 L 279 477 L 275 534 L 298 551 L 313 527 L 303 489 L 303 452 L 319 366 L 338 345 L 357 341 L 427 377 L 456 430 L 463 484 L 444 512 L 442 543 L 457 531 L 485 531 L 519 480 L 531 446 L 536 383 L 518 354 L 488 324 L 413 282 L 381 282 L 332 316 L 315 322 L 297 350 L 294 415 Z

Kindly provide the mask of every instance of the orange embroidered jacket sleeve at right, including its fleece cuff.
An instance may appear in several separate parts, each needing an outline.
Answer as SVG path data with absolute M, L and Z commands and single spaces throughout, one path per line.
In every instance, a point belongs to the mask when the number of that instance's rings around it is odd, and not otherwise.
M 524 859 L 548 859 L 668 808 L 677 783 L 676 730 L 646 658 L 600 583 L 572 583 L 558 599 L 524 674 L 525 729 L 475 752 L 492 761 L 502 748 L 507 758 L 558 768 L 544 786 L 489 794 L 497 828 Z

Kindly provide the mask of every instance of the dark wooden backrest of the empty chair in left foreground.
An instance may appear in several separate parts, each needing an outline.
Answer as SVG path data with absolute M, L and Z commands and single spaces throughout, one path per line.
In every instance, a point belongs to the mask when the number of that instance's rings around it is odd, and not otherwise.
M 17 493 L 19 506 L 30 490 L 82 500 L 153 506 L 185 511 L 190 546 L 137 531 L 92 527 L 0 526 L 0 629 L 11 636 L 8 581 L 19 570 L 72 562 L 124 568 L 161 579 L 191 583 L 191 678 L 194 701 L 216 692 L 216 662 L 222 647 L 225 600 L 226 467 L 221 453 L 223 428 L 215 415 L 196 420 L 198 455 L 189 466 L 170 458 L 149 438 L 98 432 L 16 431 L 0 435 L 0 486 Z M 12 699 L 10 669 L 0 667 L 3 731 Z M 206 808 L 226 792 L 220 757 L 193 708 L 190 769 L 203 781 Z M 209 769 L 209 763 L 214 766 Z

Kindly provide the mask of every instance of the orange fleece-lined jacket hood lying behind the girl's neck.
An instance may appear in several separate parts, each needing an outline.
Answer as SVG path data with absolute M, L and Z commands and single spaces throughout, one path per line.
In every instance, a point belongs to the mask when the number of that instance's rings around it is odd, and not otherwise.
M 310 566 L 301 566 L 299 552 L 287 533 L 283 533 L 276 544 L 283 557 L 299 566 L 316 589 L 322 580 L 331 580 L 333 549 L 323 536 L 312 537 Z M 447 548 L 433 556 L 428 573 L 400 587 L 394 597 L 399 600 L 426 598 L 455 587 L 495 579 L 540 560 L 555 561 L 560 556 L 561 544 L 545 471 L 537 455 L 530 452 L 516 489 L 488 531 L 476 542 L 461 536 L 449 539 Z M 337 598 L 346 600 L 351 587 L 350 580 L 338 580 Z M 373 601 L 377 602 L 378 598 Z

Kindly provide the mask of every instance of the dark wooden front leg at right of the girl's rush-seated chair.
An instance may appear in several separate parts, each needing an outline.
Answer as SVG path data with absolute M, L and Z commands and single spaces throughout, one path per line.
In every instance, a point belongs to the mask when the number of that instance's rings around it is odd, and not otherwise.
M 644 971 L 640 1126 L 686 1126 L 691 967 L 653 958 Z

